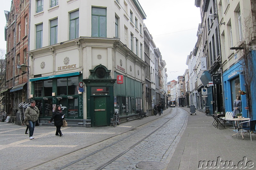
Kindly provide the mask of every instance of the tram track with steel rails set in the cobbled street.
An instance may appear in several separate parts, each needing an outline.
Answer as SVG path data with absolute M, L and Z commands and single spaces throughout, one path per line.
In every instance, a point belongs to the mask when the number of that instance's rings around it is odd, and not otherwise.
M 112 137 L 106 141 L 111 142 L 109 144 L 108 142 L 104 141 L 101 142 L 102 144 L 94 144 L 95 147 L 89 146 L 84 149 L 81 152 L 89 151 L 91 153 L 86 153 L 85 156 L 80 157 L 79 159 L 73 160 L 70 163 L 63 166 L 59 166 L 59 168 L 54 168 L 57 170 L 60 169 L 76 169 L 75 167 L 77 165 L 84 165 L 91 167 L 90 160 L 99 159 L 101 155 L 111 153 L 111 155 L 108 155 L 108 158 L 105 158 L 104 160 L 101 160 L 101 162 L 97 163 L 97 167 L 94 165 L 93 169 L 103 169 L 106 166 L 109 166 L 111 163 L 113 163 L 116 159 L 120 158 L 124 154 L 128 153 L 131 150 L 137 150 L 140 144 L 147 142 L 147 138 L 150 138 L 153 134 L 157 133 L 161 128 L 164 128 L 164 126 L 167 126 L 170 121 L 175 119 L 175 117 L 179 114 L 178 108 L 172 108 L 170 109 L 169 113 L 162 116 L 160 119 L 156 119 L 152 122 L 148 122 L 144 125 L 141 125 L 137 128 L 134 128 L 125 134 L 120 134 L 115 137 Z M 161 122 L 161 123 L 159 123 Z M 159 135 L 159 134 L 157 134 Z M 176 137 L 173 138 L 175 140 Z M 113 140 L 113 141 L 112 141 Z M 151 140 L 151 139 L 149 139 Z M 132 141 L 132 143 L 130 142 Z M 126 144 L 126 146 L 124 146 Z M 122 146 L 122 147 L 121 147 Z M 143 146 L 143 144 L 142 144 Z M 92 149 L 93 148 L 93 149 Z M 96 148 L 96 150 L 94 150 Z M 98 149 L 97 149 L 98 148 Z M 94 151 L 93 151 L 94 150 Z M 83 153 L 82 153 L 83 154 Z M 66 155 L 68 156 L 68 155 Z M 66 157 L 65 156 L 65 157 Z M 74 156 L 73 156 L 74 157 Z M 77 156 L 78 157 L 78 156 Z M 57 158 L 59 159 L 59 158 Z M 65 158 L 63 158 L 65 159 Z M 87 161 L 89 163 L 87 163 Z M 56 165 L 57 166 L 57 165 Z M 57 166 L 58 167 L 58 166 Z M 35 168 L 33 168 L 35 169 Z M 42 169 L 42 167 L 41 167 Z M 92 169 L 92 168 L 91 168 Z

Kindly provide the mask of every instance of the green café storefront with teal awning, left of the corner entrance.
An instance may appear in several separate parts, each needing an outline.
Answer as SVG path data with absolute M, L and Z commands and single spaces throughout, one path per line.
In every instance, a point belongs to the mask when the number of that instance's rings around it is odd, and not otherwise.
M 48 123 L 57 105 L 60 105 L 66 119 L 83 120 L 83 94 L 79 92 L 78 84 L 83 77 L 80 71 L 57 74 L 45 77 L 31 78 L 31 100 L 36 101 L 40 110 L 40 123 Z

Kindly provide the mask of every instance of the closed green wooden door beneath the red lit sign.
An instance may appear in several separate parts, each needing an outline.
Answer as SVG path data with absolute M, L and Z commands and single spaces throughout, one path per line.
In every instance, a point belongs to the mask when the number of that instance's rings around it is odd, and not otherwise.
M 94 126 L 107 126 L 106 96 L 94 97 Z

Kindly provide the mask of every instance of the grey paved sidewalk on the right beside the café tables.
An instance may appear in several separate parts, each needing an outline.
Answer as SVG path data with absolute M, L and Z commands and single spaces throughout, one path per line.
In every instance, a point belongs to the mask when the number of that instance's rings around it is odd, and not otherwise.
M 244 134 L 244 140 L 239 135 L 239 139 L 235 135 L 235 132 L 231 124 L 226 124 L 226 129 L 217 129 L 212 126 L 212 116 L 206 116 L 205 113 L 196 110 L 196 115 L 190 115 L 188 107 L 179 107 L 188 111 L 188 124 L 184 130 L 180 142 L 175 149 L 172 159 L 167 166 L 167 170 L 196 170 L 203 169 L 201 167 L 202 162 L 199 161 L 232 161 L 233 166 L 239 165 L 243 161 L 242 168 L 247 169 L 249 167 L 248 161 L 256 163 L 256 138 L 255 134 L 252 134 L 252 141 Z M 244 158 L 245 157 L 245 158 Z M 245 160 L 246 159 L 246 160 Z M 222 162 L 222 163 L 224 163 Z M 213 162 L 214 163 L 214 162 Z M 217 167 L 220 163 L 217 163 Z M 211 168 L 209 165 L 206 169 Z M 212 166 L 214 168 L 214 164 Z M 231 165 L 227 165 L 225 168 L 231 168 Z M 234 167 L 235 168 L 235 167 Z M 234 169 L 233 168 L 233 169 Z M 237 167 L 238 169 L 242 169 Z M 236 168 L 236 169 L 237 169 Z M 256 169 L 256 166 L 251 169 Z

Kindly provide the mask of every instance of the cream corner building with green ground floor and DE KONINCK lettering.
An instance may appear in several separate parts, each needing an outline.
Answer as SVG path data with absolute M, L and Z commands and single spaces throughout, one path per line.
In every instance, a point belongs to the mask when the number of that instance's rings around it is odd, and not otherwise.
M 31 1 L 29 94 L 40 123 L 56 105 L 72 126 L 109 126 L 114 109 L 122 122 L 136 118 L 145 104 L 143 19 L 137 0 Z

